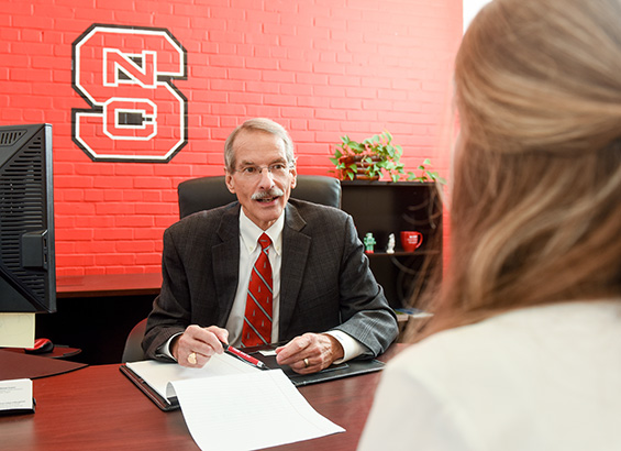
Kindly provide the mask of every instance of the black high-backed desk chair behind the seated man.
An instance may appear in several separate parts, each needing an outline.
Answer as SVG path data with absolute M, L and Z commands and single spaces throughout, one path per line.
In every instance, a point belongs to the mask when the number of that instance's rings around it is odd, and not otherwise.
M 177 187 L 177 194 L 179 196 L 180 218 L 236 200 L 235 195 L 226 188 L 224 176 L 200 177 L 181 182 Z M 332 177 L 298 175 L 298 185 L 291 191 L 291 197 L 341 208 L 341 183 Z M 142 339 L 145 329 L 146 319 L 143 319 L 130 331 L 121 358 L 123 363 L 144 360 Z

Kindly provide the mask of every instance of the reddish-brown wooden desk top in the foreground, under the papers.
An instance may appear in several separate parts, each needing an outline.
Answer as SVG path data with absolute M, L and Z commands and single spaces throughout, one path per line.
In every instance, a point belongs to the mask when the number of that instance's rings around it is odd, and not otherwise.
M 380 360 L 406 348 L 393 344 Z M 310 385 L 300 393 L 344 433 L 278 447 L 278 450 L 355 450 L 381 372 Z M 20 451 L 157 451 L 199 448 L 179 410 L 164 413 L 120 371 L 89 366 L 35 380 L 36 414 L 0 417 L 1 448 Z

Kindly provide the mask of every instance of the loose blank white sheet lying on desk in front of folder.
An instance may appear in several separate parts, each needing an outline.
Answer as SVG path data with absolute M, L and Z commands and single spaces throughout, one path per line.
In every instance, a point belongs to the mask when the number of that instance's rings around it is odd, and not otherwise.
M 280 370 L 171 385 L 201 450 L 258 450 L 345 431 L 319 415 Z

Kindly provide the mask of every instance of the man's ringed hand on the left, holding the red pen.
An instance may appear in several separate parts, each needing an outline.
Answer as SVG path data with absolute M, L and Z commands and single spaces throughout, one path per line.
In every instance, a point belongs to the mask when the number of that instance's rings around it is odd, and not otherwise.
M 222 343 L 229 342 L 229 331 L 215 326 L 201 328 L 188 326 L 186 331 L 170 343 L 170 353 L 181 366 L 200 369 L 213 354 L 222 354 Z

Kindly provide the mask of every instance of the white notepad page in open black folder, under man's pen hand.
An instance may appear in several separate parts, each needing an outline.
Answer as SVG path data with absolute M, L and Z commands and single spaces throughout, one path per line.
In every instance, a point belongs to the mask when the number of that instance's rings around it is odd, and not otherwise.
M 260 370 L 229 354 L 215 354 L 202 369 L 188 369 L 177 363 L 163 363 L 154 360 L 127 362 L 127 367 L 141 376 L 159 396 L 167 399 L 166 386 L 170 381 L 186 381 L 240 373 L 256 373 Z

